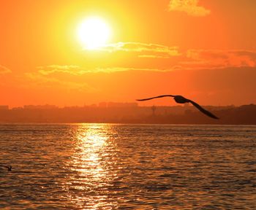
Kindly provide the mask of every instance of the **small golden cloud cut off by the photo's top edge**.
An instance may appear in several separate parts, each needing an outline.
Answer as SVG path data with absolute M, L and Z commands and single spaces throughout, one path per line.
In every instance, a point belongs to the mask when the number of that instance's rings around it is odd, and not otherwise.
M 198 0 L 170 0 L 169 11 L 186 12 L 192 16 L 206 16 L 211 13 L 209 9 L 198 6 Z

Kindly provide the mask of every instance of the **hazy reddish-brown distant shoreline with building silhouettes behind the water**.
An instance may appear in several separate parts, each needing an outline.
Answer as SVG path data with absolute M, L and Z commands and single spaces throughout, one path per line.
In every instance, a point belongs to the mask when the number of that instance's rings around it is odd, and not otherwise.
M 204 107 L 220 119 L 211 119 L 193 106 L 75 106 L 54 109 L 0 109 L 0 123 L 256 125 L 255 104 Z

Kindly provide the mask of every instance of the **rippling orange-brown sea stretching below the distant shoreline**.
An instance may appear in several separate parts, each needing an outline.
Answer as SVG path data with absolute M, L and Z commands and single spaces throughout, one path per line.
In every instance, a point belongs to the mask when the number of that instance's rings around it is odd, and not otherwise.
M 256 126 L 0 125 L 0 209 L 256 209 Z

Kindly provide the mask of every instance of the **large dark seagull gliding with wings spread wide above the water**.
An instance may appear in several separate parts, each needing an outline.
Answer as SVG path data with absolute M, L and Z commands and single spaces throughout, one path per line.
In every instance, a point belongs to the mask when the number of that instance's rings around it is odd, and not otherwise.
M 185 104 L 185 103 L 191 103 L 193 104 L 197 109 L 199 109 L 203 114 L 206 114 L 208 117 L 214 118 L 214 119 L 219 119 L 219 117 L 216 117 L 214 114 L 211 112 L 207 111 L 206 109 L 203 109 L 202 106 L 199 104 L 195 103 L 195 101 L 191 101 L 187 98 L 184 98 L 183 96 L 174 96 L 174 95 L 162 95 L 162 96 L 155 96 L 152 98 L 143 98 L 143 99 L 137 99 L 136 101 L 148 101 L 154 98 L 163 98 L 163 97 L 173 97 L 174 101 L 178 104 Z

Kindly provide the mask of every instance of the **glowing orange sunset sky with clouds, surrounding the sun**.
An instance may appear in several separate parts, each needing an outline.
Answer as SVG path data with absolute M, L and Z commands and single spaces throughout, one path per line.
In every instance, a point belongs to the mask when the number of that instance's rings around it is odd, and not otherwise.
M 177 94 L 256 103 L 256 1 L 1 1 L 0 105 L 83 106 Z M 112 30 L 86 50 L 91 16 Z M 169 99 L 170 100 L 170 99 Z M 174 105 L 165 98 L 141 105 Z

